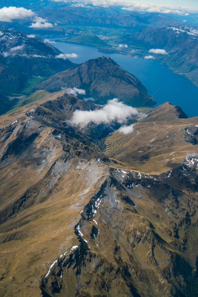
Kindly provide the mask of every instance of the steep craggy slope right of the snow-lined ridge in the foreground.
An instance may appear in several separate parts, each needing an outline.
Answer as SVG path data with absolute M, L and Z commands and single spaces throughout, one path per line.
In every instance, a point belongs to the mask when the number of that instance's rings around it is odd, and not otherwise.
M 43 277 L 42 296 L 184 296 L 196 267 L 197 173 L 194 158 L 158 176 L 109 169 L 75 226 L 78 244 Z

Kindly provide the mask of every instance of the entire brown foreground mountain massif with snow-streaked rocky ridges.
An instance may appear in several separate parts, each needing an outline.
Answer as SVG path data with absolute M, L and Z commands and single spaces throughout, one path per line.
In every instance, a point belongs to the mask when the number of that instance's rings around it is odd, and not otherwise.
M 1 116 L 3 296 L 180 297 L 196 285 L 197 144 L 185 137 L 198 118 L 166 102 L 106 138 L 125 140 L 125 155 L 98 159 L 104 135 L 67 120 L 99 108 L 59 92 Z

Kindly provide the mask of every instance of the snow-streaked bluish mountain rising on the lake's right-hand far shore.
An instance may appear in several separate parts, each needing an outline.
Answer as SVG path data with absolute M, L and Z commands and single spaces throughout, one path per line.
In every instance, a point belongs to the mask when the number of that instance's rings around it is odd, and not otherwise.
M 186 74 L 198 85 L 198 30 L 186 27 L 168 26 L 161 29 L 143 29 L 136 33 L 126 34 L 122 41 L 129 46 L 150 50 L 164 49 L 168 54 L 149 53 L 166 62 L 177 72 Z

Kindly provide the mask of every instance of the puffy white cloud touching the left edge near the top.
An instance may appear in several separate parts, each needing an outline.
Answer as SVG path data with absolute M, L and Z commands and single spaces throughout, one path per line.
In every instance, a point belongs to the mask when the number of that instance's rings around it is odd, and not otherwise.
M 13 20 L 23 20 L 34 16 L 34 12 L 31 9 L 24 7 L 3 7 L 0 9 L 0 21 L 12 22 Z

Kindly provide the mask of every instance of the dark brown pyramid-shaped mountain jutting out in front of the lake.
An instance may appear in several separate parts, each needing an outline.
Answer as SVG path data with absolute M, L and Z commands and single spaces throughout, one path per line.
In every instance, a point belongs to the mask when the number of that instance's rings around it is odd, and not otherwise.
M 79 98 L 91 97 L 97 104 L 105 104 L 115 97 L 136 107 L 155 104 L 142 83 L 108 56 L 91 59 L 73 69 L 57 73 L 41 81 L 36 89 L 55 92 L 69 87 L 84 89 L 86 96 L 79 95 Z

